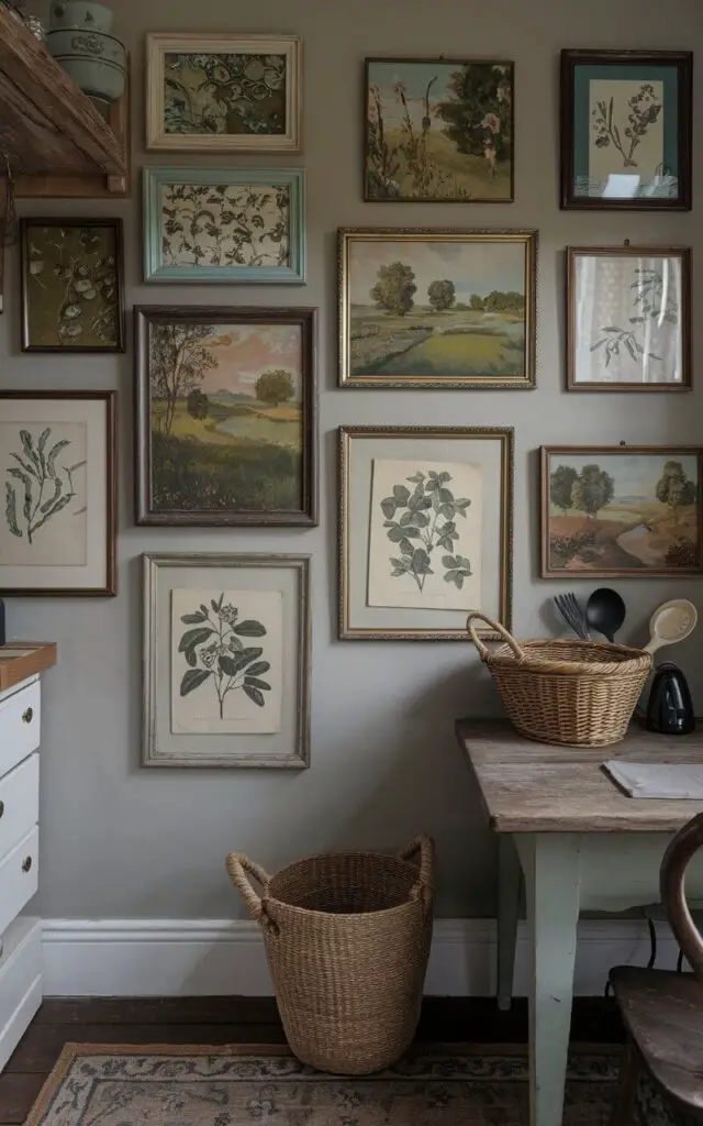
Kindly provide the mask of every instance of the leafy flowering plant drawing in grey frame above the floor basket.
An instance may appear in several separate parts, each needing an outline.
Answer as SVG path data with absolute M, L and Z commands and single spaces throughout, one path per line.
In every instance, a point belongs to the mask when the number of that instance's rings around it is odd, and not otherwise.
M 181 622 L 193 628 L 186 629 L 178 646 L 190 665 L 181 680 L 181 696 L 211 679 L 220 720 L 228 692 L 241 689 L 258 707 L 263 707 L 263 694 L 271 690 L 271 685 L 261 680 L 271 668 L 268 661 L 259 660 L 263 649 L 245 646 L 241 641 L 265 636 L 265 626 L 253 618 L 240 622 L 237 607 L 231 602 L 223 606 L 224 599 L 223 591 L 217 600 L 210 599 L 209 608 L 201 602 L 198 610 L 182 615 Z

